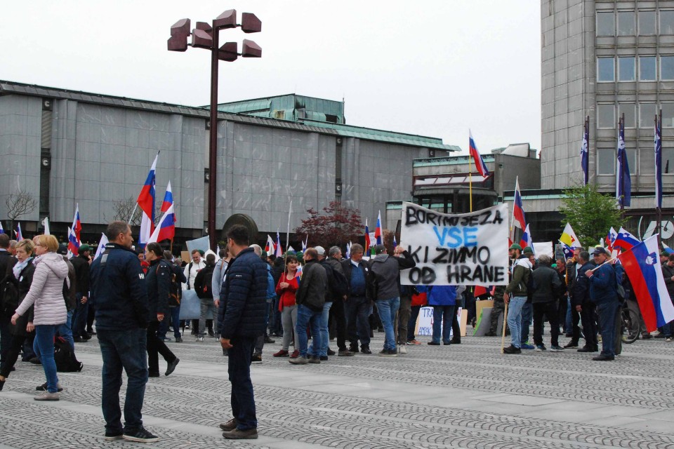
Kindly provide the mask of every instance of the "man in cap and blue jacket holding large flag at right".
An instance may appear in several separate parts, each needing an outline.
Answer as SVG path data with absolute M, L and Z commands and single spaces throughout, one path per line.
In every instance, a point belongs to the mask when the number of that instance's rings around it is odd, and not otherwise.
M 602 247 L 592 253 L 597 268 L 588 269 L 585 276 L 590 279 L 590 300 L 597 306 L 599 326 L 602 332 L 602 352 L 592 359 L 611 361 L 616 357 L 614 334 L 616 332 L 616 314 L 620 305 L 616 290 L 616 272 L 609 260 L 609 253 Z

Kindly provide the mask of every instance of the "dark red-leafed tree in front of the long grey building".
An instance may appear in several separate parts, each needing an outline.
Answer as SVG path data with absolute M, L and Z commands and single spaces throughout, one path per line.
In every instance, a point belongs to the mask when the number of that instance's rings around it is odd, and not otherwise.
M 348 208 L 340 201 L 331 201 L 322 211 L 308 209 L 309 217 L 302 220 L 302 225 L 295 229 L 298 239 L 309 236 L 308 246 L 320 245 L 343 247 L 349 241 L 356 243 L 362 236 L 364 227 L 360 218 L 360 210 Z

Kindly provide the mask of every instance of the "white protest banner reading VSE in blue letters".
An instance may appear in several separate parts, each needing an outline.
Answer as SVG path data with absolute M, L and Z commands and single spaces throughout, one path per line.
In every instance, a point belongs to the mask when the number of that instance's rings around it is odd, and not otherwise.
M 404 285 L 499 286 L 508 283 L 508 205 L 451 215 L 402 203 L 400 242 L 416 267 Z

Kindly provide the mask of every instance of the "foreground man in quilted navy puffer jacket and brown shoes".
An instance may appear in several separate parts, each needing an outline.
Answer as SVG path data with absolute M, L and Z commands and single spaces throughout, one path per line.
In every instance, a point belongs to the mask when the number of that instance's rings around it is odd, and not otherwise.
M 228 439 L 258 438 L 258 419 L 251 382 L 255 339 L 265 333 L 267 264 L 249 248 L 249 232 L 234 225 L 227 232 L 227 248 L 234 260 L 220 290 L 220 344 L 227 349 L 227 373 L 232 382 L 231 420 L 220 424 Z

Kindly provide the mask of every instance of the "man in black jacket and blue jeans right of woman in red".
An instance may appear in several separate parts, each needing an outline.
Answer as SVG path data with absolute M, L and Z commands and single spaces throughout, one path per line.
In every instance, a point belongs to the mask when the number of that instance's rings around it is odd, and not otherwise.
M 297 323 L 295 333 L 300 347 L 298 358 L 291 358 L 293 365 L 306 365 L 307 363 L 321 363 L 318 354 L 307 358 L 307 325 L 311 327 L 313 347 L 322 347 L 321 317 L 325 304 L 325 296 L 328 293 L 328 275 L 325 268 L 318 262 L 318 252 L 315 248 L 307 248 L 304 253 L 307 262 L 302 270 L 300 288 L 297 290 L 295 300 L 297 302 Z

